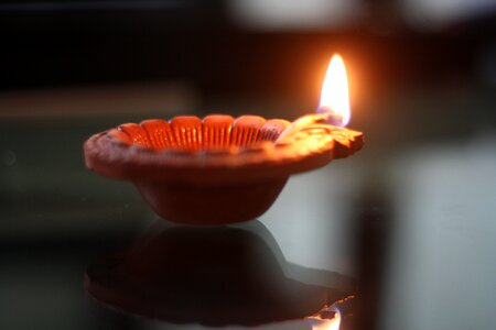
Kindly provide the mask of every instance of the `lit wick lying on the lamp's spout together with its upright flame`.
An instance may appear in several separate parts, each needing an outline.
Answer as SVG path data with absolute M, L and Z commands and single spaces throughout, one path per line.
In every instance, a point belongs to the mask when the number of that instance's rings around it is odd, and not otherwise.
M 346 67 L 339 55 L 334 55 L 327 67 L 321 91 L 317 113 L 303 116 L 285 129 L 276 143 L 314 123 L 345 127 L 349 122 L 349 92 Z

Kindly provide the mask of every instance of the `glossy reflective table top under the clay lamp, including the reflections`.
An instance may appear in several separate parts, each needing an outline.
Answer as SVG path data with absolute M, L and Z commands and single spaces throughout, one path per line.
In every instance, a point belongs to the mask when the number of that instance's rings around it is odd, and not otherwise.
M 131 185 L 84 168 L 91 133 L 157 112 L 3 117 L 0 328 L 493 329 L 492 119 L 434 130 L 393 111 L 451 105 L 428 99 L 381 100 L 385 122 L 358 114 L 360 153 L 220 228 L 159 219 Z M 471 100 L 460 107 L 495 101 Z

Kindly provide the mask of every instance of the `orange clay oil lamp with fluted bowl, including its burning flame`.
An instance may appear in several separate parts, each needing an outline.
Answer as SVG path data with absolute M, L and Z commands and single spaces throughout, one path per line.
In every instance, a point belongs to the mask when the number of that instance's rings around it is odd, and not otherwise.
M 190 224 L 240 222 L 261 216 L 292 174 L 358 151 L 347 130 L 347 79 L 333 57 L 320 113 L 294 122 L 258 116 L 179 116 L 125 123 L 89 138 L 88 168 L 134 184 L 162 218 Z

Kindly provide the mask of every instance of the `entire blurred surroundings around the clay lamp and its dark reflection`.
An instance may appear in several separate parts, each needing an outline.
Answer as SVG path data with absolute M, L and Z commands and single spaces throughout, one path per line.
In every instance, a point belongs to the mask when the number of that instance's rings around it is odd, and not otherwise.
M 0 43 L 1 329 L 108 329 L 85 270 L 157 216 L 85 169 L 90 134 L 293 120 L 334 53 L 366 145 L 291 178 L 260 221 L 289 263 L 357 279 L 357 329 L 494 329 L 494 0 L 2 1 Z

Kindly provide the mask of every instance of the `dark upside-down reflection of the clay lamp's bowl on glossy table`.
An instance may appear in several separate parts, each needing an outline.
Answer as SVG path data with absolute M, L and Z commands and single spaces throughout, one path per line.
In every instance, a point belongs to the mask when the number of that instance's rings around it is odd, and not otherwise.
M 128 252 L 91 264 L 85 287 L 132 315 L 206 326 L 303 319 L 351 294 L 288 278 L 277 249 L 258 221 L 191 228 L 161 220 Z

